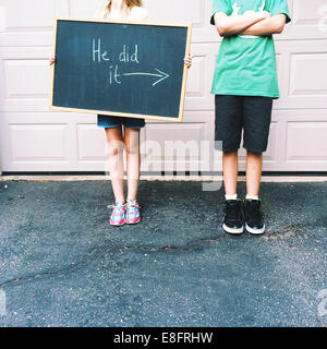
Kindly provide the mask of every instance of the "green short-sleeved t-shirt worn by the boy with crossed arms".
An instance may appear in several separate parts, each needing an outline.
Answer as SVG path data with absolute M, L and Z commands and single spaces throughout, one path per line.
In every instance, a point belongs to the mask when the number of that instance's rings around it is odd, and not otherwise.
M 283 13 L 291 21 L 287 0 L 214 0 L 214 14 L 241 15 L 245 11 Z M 225 37 L 217 58 L 211 94 L 278 98 L 275 44 L 271 35 Z

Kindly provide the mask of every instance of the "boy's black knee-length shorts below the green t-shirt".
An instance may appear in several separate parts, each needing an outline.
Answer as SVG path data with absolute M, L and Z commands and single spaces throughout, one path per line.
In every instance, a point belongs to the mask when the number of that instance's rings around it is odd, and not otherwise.
M 216 95 L 215 141 L 222 151 L 243 147 L 251 153 L 266 152 L 271 122 L 272 98 L 261 96 Z M 221 151 L 220 146 L 216 143 Z

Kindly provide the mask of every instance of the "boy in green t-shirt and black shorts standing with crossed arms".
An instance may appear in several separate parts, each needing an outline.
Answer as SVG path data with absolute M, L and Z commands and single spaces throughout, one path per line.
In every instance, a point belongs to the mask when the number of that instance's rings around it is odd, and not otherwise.
M 258 197 L 272 99 L 279 97 L 272 34 L 290 22 L 287 0 L 214 0 L 210 23 L 223 37 L 214 75 L 215 140 L 222 141 L 226 232 L 265 232 Z M 244 131 L 246 198 L 238 198 L 238 149 Z

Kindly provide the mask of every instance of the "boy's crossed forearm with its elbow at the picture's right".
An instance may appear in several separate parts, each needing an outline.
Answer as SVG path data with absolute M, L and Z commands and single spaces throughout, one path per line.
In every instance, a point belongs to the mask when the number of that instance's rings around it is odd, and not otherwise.
M 286 24 L 286 15 L 276 14 L 269 19 L 255 23 L 242 32 L 242 35 L 265 36 L 271 34 L 280 34 Z

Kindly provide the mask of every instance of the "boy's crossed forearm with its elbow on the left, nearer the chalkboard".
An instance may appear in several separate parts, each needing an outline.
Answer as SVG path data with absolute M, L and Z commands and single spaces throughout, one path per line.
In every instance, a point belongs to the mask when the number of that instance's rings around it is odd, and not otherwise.
M 247 27 L 270 16 L 269 12 L 250 12 L 243 15 L 227 15 L 223 12 L 215 13 L 215 26 L 220 36 L 231 36 L 244 32 Z

